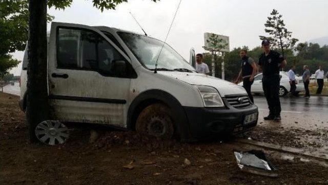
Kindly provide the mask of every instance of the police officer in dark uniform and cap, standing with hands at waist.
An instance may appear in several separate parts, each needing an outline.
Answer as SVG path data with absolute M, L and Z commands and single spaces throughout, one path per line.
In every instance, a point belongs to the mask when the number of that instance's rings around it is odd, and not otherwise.
M 264 120 L 280 121 L 279 68 L 286 66 L 287 62 L 280 53 L 270 50 L 269 40 L 262 40 L 262 49 L 264 53 L 259 56 L 258 65 L 263 71 L 262 87 L 270 111 L 269 115 L 264 117 Z

